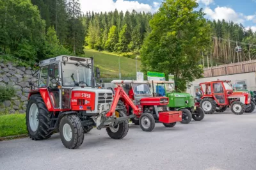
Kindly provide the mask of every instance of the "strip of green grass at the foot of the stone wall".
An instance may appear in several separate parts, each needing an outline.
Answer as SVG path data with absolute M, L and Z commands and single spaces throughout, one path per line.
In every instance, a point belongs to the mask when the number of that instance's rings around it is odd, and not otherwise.
M 0 115 L 0 137 L 28 134 L 26 114 Z

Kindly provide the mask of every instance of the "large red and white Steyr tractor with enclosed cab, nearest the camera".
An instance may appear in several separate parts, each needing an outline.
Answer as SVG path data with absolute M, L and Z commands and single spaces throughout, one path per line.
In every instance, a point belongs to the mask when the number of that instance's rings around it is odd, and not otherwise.
M 122 139 L 129 130 L 126 111 L 118 106 L 109 89 L 96 87 L 93 58 L 58 56 L 40 61 L 38 85 L 30 83 L 26 125 L 33 140 L 51 137 L 60 131 L 66 148 L 81 146 L 84 133 L 106 128 L 109 137 Z M 94 71 L 95 70 L 95 71 Z M 122 93 L 122 88 L 117 87 Z

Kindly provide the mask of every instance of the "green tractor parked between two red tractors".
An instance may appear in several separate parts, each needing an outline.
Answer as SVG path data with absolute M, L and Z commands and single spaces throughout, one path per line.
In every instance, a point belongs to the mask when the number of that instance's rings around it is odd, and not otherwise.
M 148 81 L 153 97 L 168 97 L 170 111 L 182 111 L 182 121 L 188 124 L 192 118 L 195 121 L 204 119 L 204 110 L 195 103 L 195 98 L 188 93 L 176 93 L 172 81 Z

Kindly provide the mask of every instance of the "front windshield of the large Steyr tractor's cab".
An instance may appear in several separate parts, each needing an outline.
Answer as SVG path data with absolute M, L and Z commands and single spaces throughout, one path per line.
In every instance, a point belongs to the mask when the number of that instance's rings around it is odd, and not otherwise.
M 84 82 L 86 86 L 92 86 L 92 70 L 82 65 L 62 63 L 63 86 L 79 86 Z

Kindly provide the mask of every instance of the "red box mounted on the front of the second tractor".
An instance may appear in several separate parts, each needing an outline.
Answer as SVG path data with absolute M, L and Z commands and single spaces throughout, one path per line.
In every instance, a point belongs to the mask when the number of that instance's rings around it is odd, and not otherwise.
M 174 123 L 177 121 L 182 121 L 182 112 L 180 111 L 159 112 L 159 121 L 163 123 Z

